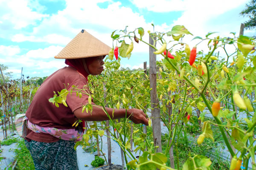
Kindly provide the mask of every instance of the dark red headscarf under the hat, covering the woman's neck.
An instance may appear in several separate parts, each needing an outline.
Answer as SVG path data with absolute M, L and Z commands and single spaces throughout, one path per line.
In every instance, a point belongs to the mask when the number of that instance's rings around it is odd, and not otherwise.
M 65 64 L 70 65 L 73 68 L 76 68 L 76 70 L 87 79 L 89 74 L 84 69 L 83 59 L 65 59 Z

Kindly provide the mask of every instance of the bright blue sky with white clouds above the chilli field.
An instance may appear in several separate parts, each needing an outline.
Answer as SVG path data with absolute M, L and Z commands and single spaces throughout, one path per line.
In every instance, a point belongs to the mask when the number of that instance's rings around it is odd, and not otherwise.
M 160 32 L 185 26 L 193 36 L 183 40 L 192 48 L 193 37 L 208 32 L 239 36 L 241 23 L 248 20 L 239 15 L 246 3 L 249 0 L 0 0 L 0 64 L 13 79 L 20 78 L 21 68 L 24 77 L 49 76 L 66 66 L 54 56 L 81 29 L 112 47 L 111 33 L 125 26 L 130 31 L 143 27 L 148 42 L 151 23 Z M 256 35 L 256 30 L 244 30 L 244 35 Z M 142 68 L 145 61 L 149 64 L 148 46 L 134 43 L 131 58 L 121 58 L 121 66 Z

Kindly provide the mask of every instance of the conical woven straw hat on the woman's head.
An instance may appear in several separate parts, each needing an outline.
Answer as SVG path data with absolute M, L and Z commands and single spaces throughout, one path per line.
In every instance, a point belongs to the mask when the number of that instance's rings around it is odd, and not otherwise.
M 105 56 L 110 49 L 111 47 L 82 29 L 54 58 L 78 59 Z

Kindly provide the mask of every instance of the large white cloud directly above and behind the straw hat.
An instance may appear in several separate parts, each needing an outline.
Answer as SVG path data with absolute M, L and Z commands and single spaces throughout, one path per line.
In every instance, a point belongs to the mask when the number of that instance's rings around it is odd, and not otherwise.
M 112 46 L 110 37 L 112 31 L 124 29 L 125 26 L 129 26 L 129 30 L 149 27 L 141 14 L 134 13 L 131 8 L 121 6 L 120 2 L 111 3 L 108 8 L 104 9 L 97 6 L 98 2 L 86 1 L 84 3 L 83 0 L 67 0 L 67 7 L 64 10 L 44 17 L 40 25 L 33 28 L 32 33 L 17 34 L 12 36 L 12 40 L 62 45 L 67 42 L 68 38 L 71 40 L 75 37 L 83 28 L 102 42 Z

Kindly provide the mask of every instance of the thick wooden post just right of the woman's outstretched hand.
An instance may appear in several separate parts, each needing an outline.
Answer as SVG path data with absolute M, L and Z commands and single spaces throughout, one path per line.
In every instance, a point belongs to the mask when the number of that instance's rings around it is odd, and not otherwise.
M 151 34 L 150 34 L 151 35 Z M 154 40 L 156 40 L 154 38 Z M 153 45 L 154 40 L 151 36 L 149 36 L 149 44 Z M 151 117 L 152 117 L 152 128 L 153 128 L 153 138 L 154 138 L 154 146 L 159 146 L 157 148 L 157 152 L 162 152 L 162 144 L 161 144 L 161 119 L 160 119 L 160 110 L 157 108 L 158 99 L 157 99 L 157 69 L 156 62 L 157 57 L 153 52 L 154 48 L 149 46 L 149 80 L 150 80 L 150 101 L 151 101 Z

